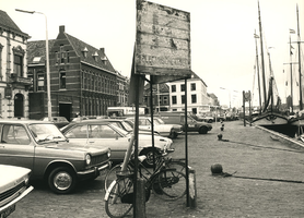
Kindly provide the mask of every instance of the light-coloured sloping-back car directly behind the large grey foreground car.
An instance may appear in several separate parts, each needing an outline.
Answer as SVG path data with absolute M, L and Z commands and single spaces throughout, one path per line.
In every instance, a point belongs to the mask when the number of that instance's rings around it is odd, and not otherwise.
M 121 162 L 129 146 L 132 132 L 129 133 L 115 123 L 102 120 L 83 120 L 70 123 L 62 129 L 63 135 L 70 142 L 78 142 L 94 147 L 109 147 L 110 160 Z M 172 140 L 162 136 L 154 136 L 154 153 L 166 155 L 173 152 Z M 149 134 L 139 134 L 139 155 L 145 155 L 144 165 L 153 165 L 152 137 Z

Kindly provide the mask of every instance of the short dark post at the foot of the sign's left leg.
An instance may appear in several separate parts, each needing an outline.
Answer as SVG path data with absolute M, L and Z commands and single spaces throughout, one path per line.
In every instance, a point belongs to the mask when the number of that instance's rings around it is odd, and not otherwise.
M 137 205 L 136 205 L 136 218 L 145 218 L 145 189 L 144 179 L 138 178 L 137 180 Z

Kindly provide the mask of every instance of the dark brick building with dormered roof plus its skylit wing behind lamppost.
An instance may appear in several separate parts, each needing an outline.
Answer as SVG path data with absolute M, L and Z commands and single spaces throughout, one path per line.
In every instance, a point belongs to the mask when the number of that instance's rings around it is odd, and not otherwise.
M 107 107 L 117 106 L 120 90 L 117 77 L 121 80 L 121 75 L 104 48 L 96 49 L 67 34 L 65 26 L 59 26 L 59 34 L 49 40 L 49 47 L 51 116 L 68 120 L 78 114 L 103 116 Z M 28 74 L 33 81 L 30 118 L 39 119 L 47 117 L 45 47 L 43 41 L 28 41 Z

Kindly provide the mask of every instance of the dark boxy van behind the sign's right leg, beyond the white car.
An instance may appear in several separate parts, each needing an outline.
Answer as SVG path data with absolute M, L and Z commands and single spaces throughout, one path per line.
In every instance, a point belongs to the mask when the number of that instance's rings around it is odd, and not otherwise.
M 165 121 L 165 123 L 180 124 L 183 125 L 183 131 L 185 131 L 185 113 L 161 111 L 160 116 Z M 199 134 L 207 134 L 209 131 L 212 130 L 212 125 L 210 123 L 198 122 L 190 116 L 187 116 L 187 125 L 188 132 L 198 132 Z

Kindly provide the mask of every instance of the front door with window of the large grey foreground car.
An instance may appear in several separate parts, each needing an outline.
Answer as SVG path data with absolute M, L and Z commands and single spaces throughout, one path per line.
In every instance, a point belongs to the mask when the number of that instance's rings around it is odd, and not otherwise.
M 25 167 L 34 170 L 35 144 L 25 126 L 21 124 L 0 124 L 0 164 Z

